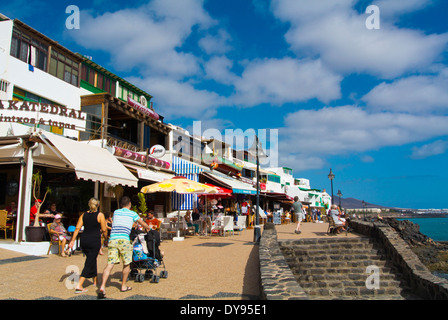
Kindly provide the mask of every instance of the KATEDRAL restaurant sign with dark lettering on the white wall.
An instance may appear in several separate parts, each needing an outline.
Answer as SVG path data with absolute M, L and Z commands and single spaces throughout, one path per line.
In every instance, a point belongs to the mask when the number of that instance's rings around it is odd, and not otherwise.
M 31 101 L 0 100 L 0 122 L 85 130 L 86 117 L 81 110 Z

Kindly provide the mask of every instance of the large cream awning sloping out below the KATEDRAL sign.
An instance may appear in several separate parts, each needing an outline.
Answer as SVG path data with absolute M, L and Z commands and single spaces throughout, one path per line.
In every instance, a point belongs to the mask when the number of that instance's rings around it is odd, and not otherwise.
M 75 170 L 78 179 L 137 187 L 138 179 L 106 149 L 49 132 L 40 137 L 53 145 L 47 144 L 67 168 Z

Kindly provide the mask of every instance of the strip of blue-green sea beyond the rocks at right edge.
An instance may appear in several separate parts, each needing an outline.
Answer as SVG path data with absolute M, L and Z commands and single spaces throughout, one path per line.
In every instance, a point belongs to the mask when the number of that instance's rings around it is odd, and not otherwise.
M 420 226 L 420 232 L 434 241 L 448 241 L 448 216 L 438 218 L 406 218 Z M 434 275 L 448 279 L 447 273 L 434 272 Z

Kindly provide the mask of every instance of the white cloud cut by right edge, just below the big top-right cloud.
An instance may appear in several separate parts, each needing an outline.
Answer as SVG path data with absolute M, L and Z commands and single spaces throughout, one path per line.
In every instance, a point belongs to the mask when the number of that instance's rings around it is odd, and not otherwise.
M 448 111 L 448 69 L 435 76 L 383 82 L 363 97 L 372 110 L 409 113 Z

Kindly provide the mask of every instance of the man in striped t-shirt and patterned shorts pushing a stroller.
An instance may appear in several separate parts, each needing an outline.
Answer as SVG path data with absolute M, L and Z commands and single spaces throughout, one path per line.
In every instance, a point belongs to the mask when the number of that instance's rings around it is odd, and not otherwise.
M 139 215 L 130 210 L 131 199 L 124 196 L 120 200 L 121 209 L 115 210 L 113 215 L 112 230 L 110 231 L 107 266 L 103 271 L 103 280 L 98 291 L 98 298 L 104 299 L 106 297 L 106 282 L 115 264 L 120 263 L 123 259 L 123 278 L 121 283 L 121 292 L 131 290 L 131 287 L 126 285 L 128 275 L 130 272 L 130 264 L 132 262 L 132 243 L 129 238 L 132 225 L 138 222 L 146 231 L 150 227 L 139 217 Z

